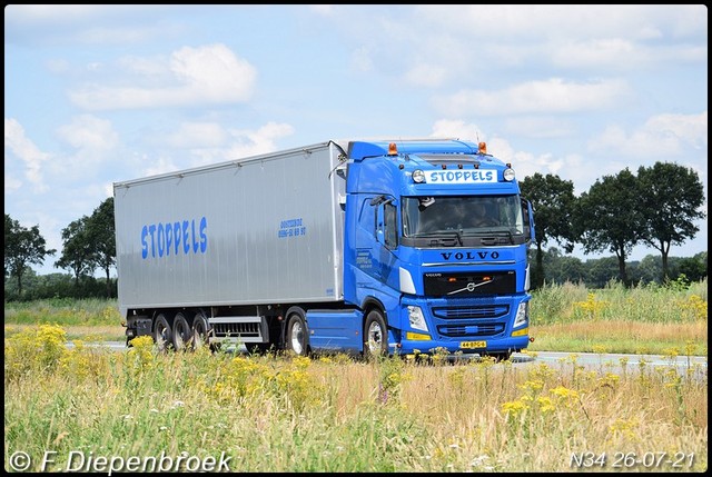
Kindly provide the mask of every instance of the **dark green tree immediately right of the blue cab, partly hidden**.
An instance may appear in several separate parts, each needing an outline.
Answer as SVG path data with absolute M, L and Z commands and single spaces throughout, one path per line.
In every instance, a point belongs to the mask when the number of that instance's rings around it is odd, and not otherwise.
M 562 180 L 558 176 L 540 172 L 524 178 L 520 183 L 522 197 L 534 207 L 536 266 L 532 276 L 536 277 L 534 288 L 544 285 L 544 252 L 543 246 L 548 239 L 554 239 L 564 247 L 566 252 L 573 250 L 575 239 L 571 227 L 571 215 L 575 202 L 574 185 L 570 180 Z

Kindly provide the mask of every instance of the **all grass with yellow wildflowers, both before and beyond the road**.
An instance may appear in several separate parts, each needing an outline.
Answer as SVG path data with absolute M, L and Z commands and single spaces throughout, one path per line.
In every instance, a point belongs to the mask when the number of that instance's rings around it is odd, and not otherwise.
M 532 348 L 706 356 L 706 281 L 534 300 Z M 65 346 L 68 329 L 111 334 L 116 320 L 100 300 L 6 304 L 7 470 L 708 468 L 706 366 L 162 354 L 149 337 L 127 352 Z

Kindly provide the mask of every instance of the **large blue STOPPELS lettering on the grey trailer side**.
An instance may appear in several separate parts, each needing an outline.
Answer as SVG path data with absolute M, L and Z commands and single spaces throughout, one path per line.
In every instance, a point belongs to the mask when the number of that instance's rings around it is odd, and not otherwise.
M 208 249 L 208 220 L 196 219 L 149 223 L 141 227 L 141 258 L 162 258 L 171 255 L 205 254 Z

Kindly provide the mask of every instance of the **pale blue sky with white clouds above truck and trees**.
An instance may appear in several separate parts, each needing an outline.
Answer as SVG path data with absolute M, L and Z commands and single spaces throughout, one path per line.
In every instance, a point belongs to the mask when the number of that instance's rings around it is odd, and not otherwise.
M 708 9 L 26 6 L 4 9 L 4 211 L 61 231 L 112 183 L 328 140 L 486 141 L 580 196 L 673 162 L 704 185 Z M 672 257 L 708 250 L 708 221 Z M 550 241 L 547 247 L 557 247 Z M 660 252 L 637 246 L 630 260 Z M 582 260 L 612 252 L 574 256 Z

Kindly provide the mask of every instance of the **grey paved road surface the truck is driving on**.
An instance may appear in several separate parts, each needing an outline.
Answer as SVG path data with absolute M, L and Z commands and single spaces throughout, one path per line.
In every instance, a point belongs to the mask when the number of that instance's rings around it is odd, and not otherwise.
M 68 347 L 73 347 L 69 342 Z M 117 351 L 125 351 L 125 341 L 105 341 L 86 344 L 86 346 L 106 347 Z M 235 352 L 235 348 L 228 348 L 228 351 Z M 246 352 L 244 346 L 237 347 L 240 352 Z M 477 359 L 476 357 L 474 359 Z M 708 357 L 706 356 L 678 356 L 666 357 L 660 355 L 621 355 L 621 354 L 595 354 L 595 352 L 558 352 L 558 351 L 537 351 L 532 354 L 515 352 L 512 355 L 512 362 L 516 367 L 530 366 L 532 364 L 544 362 L 553 368 L 571 369 L 575 362 L 586 369 L 602 370 L 604 372 L 620 374 L 623 371 L 623 365 L 627 371 L 637 371 L 641 366 L 644 367 L 675 367 L 680 372 L 692 370 L 695 374 L 706 376 Z M 650 369 L 650 368 L 649 368 Z

